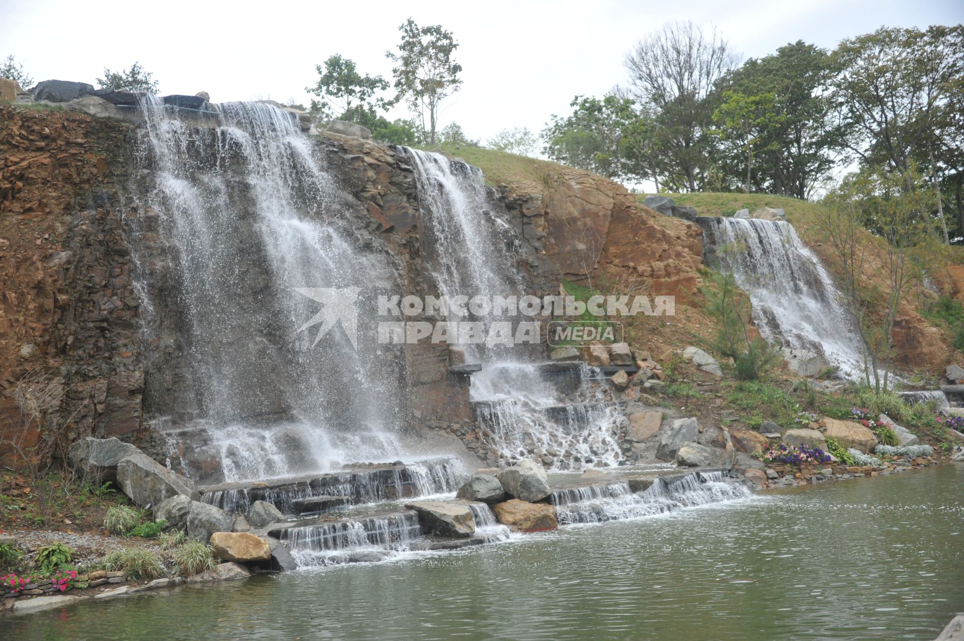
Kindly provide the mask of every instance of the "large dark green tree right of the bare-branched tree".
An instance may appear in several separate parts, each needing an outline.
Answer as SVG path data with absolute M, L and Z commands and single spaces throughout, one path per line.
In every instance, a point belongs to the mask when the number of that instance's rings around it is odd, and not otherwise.
M 798 40 L 747 60 L 726 79 L 734 92 L 773 94 L 774 111 L 782 118 L 766 145 L 757 147 L 755 183 L 761 191 L 807 199 L 837 165 L 844 129 L 829 92 L 830 76 L 829 54 Z

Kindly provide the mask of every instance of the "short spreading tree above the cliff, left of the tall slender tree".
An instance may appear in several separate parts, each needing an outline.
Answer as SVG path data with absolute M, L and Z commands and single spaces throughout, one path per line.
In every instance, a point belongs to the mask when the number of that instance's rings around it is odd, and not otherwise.
M 326 118 L 347 115 L 347 120 L 357 121 L 352 118 L 355 111 L 359 112 L 359 118 L 363 118 L 366 112 L 386 110 L 394 104 L 393 100 L 377 95 L 388 90 L 388 81 L 367 73 L 362 76 L 355 61 L 335 54 L 325 61 L 324 67 L 315 65 L 314 68 L 318 72 L 318 82 L 305 89 L 320 98 L 311 100 L 314 114 Z

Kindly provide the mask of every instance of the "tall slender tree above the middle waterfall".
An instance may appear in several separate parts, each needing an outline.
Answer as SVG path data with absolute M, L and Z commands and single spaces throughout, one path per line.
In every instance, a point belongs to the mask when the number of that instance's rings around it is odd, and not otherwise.
M 388 60 L 395 63 L 391 73 L 396 99 L 405 99 L 421 124 L 424 138 L 429 145 L 435 145 L 442 101 L 462 85 L 458 77 L 462 66 L 452 58 L 459 43 L 442 25 L 419 27 L 412 18 L 398 30 L 402 32 L 398 54 L 385 52 Z

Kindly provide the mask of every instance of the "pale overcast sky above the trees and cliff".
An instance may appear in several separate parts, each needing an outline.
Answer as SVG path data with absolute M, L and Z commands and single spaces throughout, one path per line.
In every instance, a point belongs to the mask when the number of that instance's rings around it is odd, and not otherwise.
M 735 4 L 0 0 L 0 57 L 13 54 L 37 81 L 95 84 L 103 67 L 139 61 L 161 93 L 308 104 L 314 65 L 332 54 L 388 77 L 385 50 L 411 15 L 418 24 L 442 24 L 460 44 L 465 84 L 443 106 L 441 124 L 455 120 L 485 140 L 514 126 L 538 131 L 550 114 L 567 114 L 576 93 L 600 95 L 625 83 L 629 48 L 666 21 L 715 24 L 743 57 L 794 40 L 832 47 L 881 25 L 964 21 L 961 0 Z M 405 115 L 396 107 L 390 116 Z

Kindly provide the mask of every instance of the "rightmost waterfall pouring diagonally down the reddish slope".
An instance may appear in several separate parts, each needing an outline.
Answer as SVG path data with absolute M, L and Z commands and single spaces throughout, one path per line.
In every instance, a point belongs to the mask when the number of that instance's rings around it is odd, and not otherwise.
M 863 348 L 842 295 L 790 223 L 701 218 L 708 255 L 733 270 L 753 304 L 753 321 L 771 344 L 807 349 L 863 375 Z

